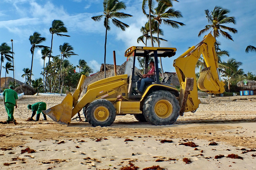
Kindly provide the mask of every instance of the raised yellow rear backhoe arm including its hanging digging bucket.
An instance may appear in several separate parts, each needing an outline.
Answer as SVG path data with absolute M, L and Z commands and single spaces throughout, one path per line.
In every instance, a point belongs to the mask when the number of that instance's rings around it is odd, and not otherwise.
M 220 81 L 219 77 L 218 58 L 214 46 L 215 42 L 215 38 L 211 34 L 208 34 L 200 43 L 192 46 L 173 62 L 181 85 L 184 84 L 186 78 L 194 78 L 196 80 L 195 68 L 201 54 L 207 66 L 200 72 L 198 81 L 194 81 L 194 88 L 188 94 L 185 112 L 195 111 L 201 103 L 197 95 L 197 85 L 200 90 L 206 91 L 207 93 L 217 94 L 225 91 L 225 84 Z

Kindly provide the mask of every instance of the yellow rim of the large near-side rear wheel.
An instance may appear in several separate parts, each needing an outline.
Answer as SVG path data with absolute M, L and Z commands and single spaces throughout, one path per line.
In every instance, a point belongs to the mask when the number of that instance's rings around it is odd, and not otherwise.
M 173 105 L 168 100 L 159 100 L 155 104 L 155 113 L 157 117 L 166 119 L 173 112 Z

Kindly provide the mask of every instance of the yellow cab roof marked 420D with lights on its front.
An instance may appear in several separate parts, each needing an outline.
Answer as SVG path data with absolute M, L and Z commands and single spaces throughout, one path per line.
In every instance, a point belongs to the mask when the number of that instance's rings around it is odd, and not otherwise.
M 176 50 L 176 48 L 132 46 L 125 51 L 124 56 L 127 57 L 134 52 L 136 57 L 154 57 L 154 51 L 157 51 L 157 57 L 172 57 L 176 54 Z

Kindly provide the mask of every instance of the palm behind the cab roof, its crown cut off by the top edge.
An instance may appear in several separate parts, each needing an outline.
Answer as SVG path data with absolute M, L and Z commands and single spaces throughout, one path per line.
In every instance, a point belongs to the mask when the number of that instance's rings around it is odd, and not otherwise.
M 164 4 L 166 4 L 169 7 L 173 6 L 172 1 L 179 2 L 177 0 L 156 0 L 156 2 L 159 2 L 159 1 L 163 2 Z M 152 47 L 154 47 L 153 33 L 152 33 L 152 27 L 151 27 L 151 22 L 152 22 L 151 13 L 153 13 L 154 1 L 152 1 L 152 0 L 143 0 L 142 1 L 142 11 L 143 11 L 143 14 L 145 14 L 145 15 L 146 15 L 146 3 L 148 3 L 148 9 L 149 9 L 148 18 L 149 18 L 149 30 L 150 30 L 151 45 L 152 45 Z

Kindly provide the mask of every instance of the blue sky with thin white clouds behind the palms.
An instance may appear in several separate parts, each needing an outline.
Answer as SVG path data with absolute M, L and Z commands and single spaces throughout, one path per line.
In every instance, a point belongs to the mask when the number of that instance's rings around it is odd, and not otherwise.
M 93 16 L 103 13 L 102 0 L 2 0 L 0 1 L 0 43 L 6 42 L 11 46 L 13 39 L 15 79 L 24 82 L 21 75 L 23 68 L 31 67 L 31 45 L 29 36 L 39 32 L 46 41 L 40 45 L 51 45 L 51 34 L 49 28 L 54 19 L 60 19 L 68 29 L 71 37 L 58 37 L 54 35 L 52 55 L 59 55 L 59 45 L 69 43 L 74 52 L 79 56 L 69 58 L 69 61 L 76 66 L 79 59 L 87 61 L 90 67 L 96 72 L 104 62 L 104 38 L 105 28 L 103 20 L 95 22 Z M 121 21 L 130 25 L 126 31 L 116 28 L 111 22 L 111 30 L 108 31 L 106 63 L 113 64 L 113 50 L 116 51 L 116 62 L 121 65 L 126 58 L 124 52 L 130 46 L 138 46 L 137 38 L 141 35 L 140 28 L 146 23 L 147 18 L 141 10 L 142 0 L 124 0 L 126 10 L 123 12 L 133 15 Z M 162 25 L 163 38 L 168 42 L 162 42 L 162 47 L 175 47 L 177 53 L 172 58 L 163 59 L 164 71 L 175 72 L 173 60 L 184 53 L 189 46 L 196 45 L 203 36 L 198 37 L 198 32 L 208 24 L 204 10 L 210 11 L 218 5 L 230 10 L 229 16 L 236 17 L 237 24 L 227 26 L 236 28 L 237 34 L 232 34 L 233 40 L 223 37 L 218 38 L 222 43 L 221 49 L 230 52 L 230 58 L 243 62 L 240 67 L 244 72 L 256 74 L 256 53 L 245 53 L 248 45 L 256 46 L 255 21 L 256 12 L 255 0 L 180 0 L 174 2 L 174 8 L 182 12 L 183 18 L 176 21 L 186 24 L 179 29 Z M 144 44 L 140 44 L 144 46 Z M 223 58 L 227 61 L 228 57 Z M 5 65 L 4 61 L 3 65 Z M 40 50 L 36 49 L 33 61 L 32 79 L 42 77 L 43 68 Z M 77 69 L 78 71 L 78 69 Z M 5 71 L 2 70 L 1 77 Z M 8 76 L 13 76 L 10 73 Z

